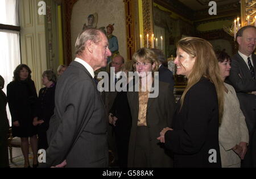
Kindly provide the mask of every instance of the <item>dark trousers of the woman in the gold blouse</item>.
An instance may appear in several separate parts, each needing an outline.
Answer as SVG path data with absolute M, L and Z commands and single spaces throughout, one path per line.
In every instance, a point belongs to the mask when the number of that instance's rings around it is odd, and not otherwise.
M 146 126 L 137 127 L 134 152 L 134 167 L 151 167 L 149 131 Z

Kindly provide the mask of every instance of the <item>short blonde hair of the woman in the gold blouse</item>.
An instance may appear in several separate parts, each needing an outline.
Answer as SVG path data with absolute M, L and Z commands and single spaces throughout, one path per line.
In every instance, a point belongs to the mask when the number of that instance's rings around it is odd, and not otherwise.
M 151 51 L 151 49 L 141 48 L 141 49 L 138 49 L 138 51 L 134 53 L 134 55 L 133 55 L 133 68 L 134 69 L 136 69 L 135 63 L 137 63 L 138 60 L 141 60 L 141 61 L 147 62 L 147 63 L 151 63 L 151 65 L 155 64 L 155 68 L 152 70 L 152 72 L 158 71 L 159 61 L 155 55 L 155 52 Z

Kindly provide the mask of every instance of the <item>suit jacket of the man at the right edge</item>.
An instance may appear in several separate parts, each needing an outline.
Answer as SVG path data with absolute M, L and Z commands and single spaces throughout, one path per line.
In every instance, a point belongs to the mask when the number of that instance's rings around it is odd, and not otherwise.
M 254 54 L 252 63 L 256 74 L 256 55 Z M 237 92 L 241 110 L 245 115 L 249 134 L 251 134 L 256 124 L 256 95 L 248 93 L 256 91 L 256 80 L 251 77 L 248 66 L 238 53 L 232 57 L 231 67 L 230 76 L 226 78 L 226 82 L 232 85 Z

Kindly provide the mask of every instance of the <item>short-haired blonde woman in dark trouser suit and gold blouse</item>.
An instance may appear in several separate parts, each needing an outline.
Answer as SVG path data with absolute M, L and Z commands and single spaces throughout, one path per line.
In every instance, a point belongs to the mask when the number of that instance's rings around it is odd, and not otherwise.
M 135 77 L 127 91 L 131 109 L 132 123 L 129 140 L 128 167 L 171 167 L 172 159 L 166 153 L 163 144 L 156 139 L 159 129 L 170 126 L 174 111 L 174 95 L 170 92 L 171 85 L 160 82 L 152 73 L 158 70 L 158 60 L 155 53 L 147 48 L 141 48 L 133 55 Z M 135 74 L 136 74 L 135 73 Z M 137 79 L 136 79 L 137 78 Z M 158 84 L 159 82 L 159 84 Z M 150 91 L 154 89 L 154 93 Z

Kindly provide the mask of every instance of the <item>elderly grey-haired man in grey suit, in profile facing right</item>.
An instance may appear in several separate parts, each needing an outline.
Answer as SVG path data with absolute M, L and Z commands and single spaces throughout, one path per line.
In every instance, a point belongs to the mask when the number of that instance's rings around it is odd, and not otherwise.
M 88 28 L 75 47 L 76 59 L 56 86 L 46 166 L 107 167 L 106 113 L 94 71 L 105 67 L 111 56 L 108 39 L 100 30 Z

